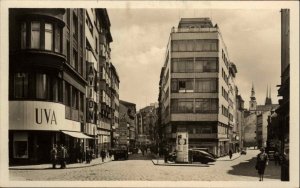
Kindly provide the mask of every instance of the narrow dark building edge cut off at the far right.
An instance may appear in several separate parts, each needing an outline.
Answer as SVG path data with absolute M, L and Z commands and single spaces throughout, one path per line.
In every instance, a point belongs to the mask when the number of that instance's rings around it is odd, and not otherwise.
M 290 10 L 281 9 L 281 84 L 278 95 L 280 107 L 276 113 L 280 116 L 281 152 L 289 155 L 290 143 Z M 281 180 L 289 181 L 289 159 L 281 166 Z

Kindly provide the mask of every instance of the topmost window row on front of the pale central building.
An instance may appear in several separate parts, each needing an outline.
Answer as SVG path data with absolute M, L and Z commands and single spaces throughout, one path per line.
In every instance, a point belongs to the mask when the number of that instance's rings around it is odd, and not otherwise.
M 218 51 L 218 40 L 199 39 L 199 40 L 172 40 L 173 52 L 209 52 Z

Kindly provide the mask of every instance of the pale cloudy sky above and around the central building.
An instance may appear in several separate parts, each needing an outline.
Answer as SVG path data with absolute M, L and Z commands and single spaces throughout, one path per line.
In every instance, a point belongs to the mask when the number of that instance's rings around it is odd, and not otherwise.
M 137 109 L 157 102 L 160 70 L 170 31 L 180 18 L 209 17 L 218 24 L 229 59 L 237 66 L 236 85 L 248 108 L 252 83 L 258 104 L 267 86 L 278 103 L 280 9 L 107 9 L 113 42 L 112 63 L 120 77 L 120 99 Z

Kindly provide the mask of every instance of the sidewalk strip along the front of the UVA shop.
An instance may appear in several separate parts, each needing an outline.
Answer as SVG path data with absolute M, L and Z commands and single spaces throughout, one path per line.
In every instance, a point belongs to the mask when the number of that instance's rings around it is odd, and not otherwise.
M 113 159 L 113 158 L 112 158 Z M 67 164 L 66 169 L 74 169 L 74 168 L 84 168 L 84 167 L 90 167 L 90 166 L 96 166 L 100 164 L 104 164 L 107 162 L 112 161 L 110 158 L 106 158 L 104 162 L 102 162 L 101 157 L 93 159 L 91 163 L 87 164 L 86 162 L 83 163 L 72 163 Z M 10 166 L 9 170 L 46 170 L 46 169 L 52 169 L 52 164 L 39 164 L 39 165 L 23 165 L 23 166 Z M 60 165 L 56 165 L 56 169 L 60 169 Z M 53 169 L 54 170 L 54 169 Z

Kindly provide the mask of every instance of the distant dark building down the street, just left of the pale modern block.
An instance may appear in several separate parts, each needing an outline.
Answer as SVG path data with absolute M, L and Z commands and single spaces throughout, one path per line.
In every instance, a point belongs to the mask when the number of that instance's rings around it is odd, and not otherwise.
M 155 143 L 155 128 L 157 124 L 157 103 L 140 109 L 136 114 L 137 143 L 150 145 Z

